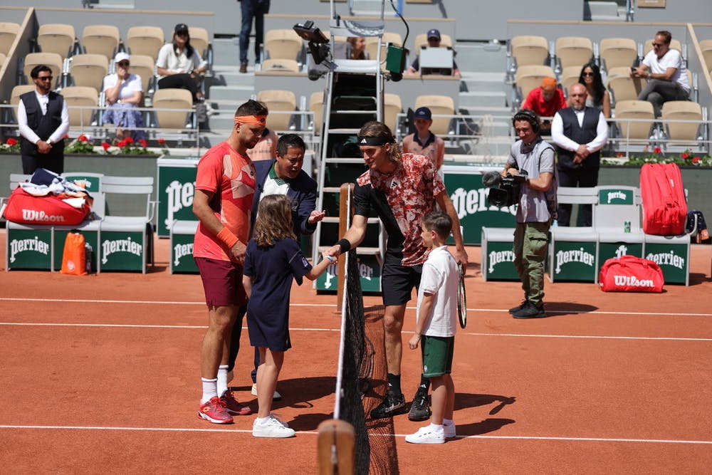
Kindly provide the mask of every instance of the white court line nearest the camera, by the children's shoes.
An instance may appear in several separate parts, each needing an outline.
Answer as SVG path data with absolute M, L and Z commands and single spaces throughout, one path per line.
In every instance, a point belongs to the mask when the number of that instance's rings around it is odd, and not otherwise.
M 54 430 L 100 430 L 100 431 L 149 431 L 149 432 L 241 432 L 251 434 L 249 429 L 188 429 L 182 427 L 98 427 L 98 426 L 30 426 L 30 425 L 0 425 L 0 429 L 54 429 Z M 316 431 L 298 431 L 297 434 L 317 435 Z M 405 437 L 405 434 L 377 434 L 371 437 Z M 520 435 L 468 435 L 458 436 L 459 439 L 514 439 L 514 440 L 554 440 L 565 442 L 625 442 L 647 444 L 706 444 L 711 440 L 676 440 L 676 439 L 624 439 L 618 437 L 546 437 Z

